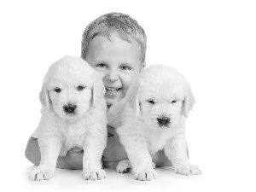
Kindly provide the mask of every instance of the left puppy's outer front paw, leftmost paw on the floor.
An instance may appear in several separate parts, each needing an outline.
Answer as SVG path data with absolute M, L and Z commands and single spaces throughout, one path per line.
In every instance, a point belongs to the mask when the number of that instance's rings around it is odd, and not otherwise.
M 40 166 L 34 169 L 29 175 L 29 179 L 32 181 L 44 181 L 49 180 L 52 177 L 54 177 L 54 171 Z

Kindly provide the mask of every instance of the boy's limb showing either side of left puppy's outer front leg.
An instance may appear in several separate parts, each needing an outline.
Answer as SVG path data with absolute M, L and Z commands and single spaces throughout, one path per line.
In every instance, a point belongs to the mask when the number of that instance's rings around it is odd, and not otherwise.
M 61 169 L 83 169 L 83 149 L 73 148 L 65 157 L 59 157 L 57 160 L 57 168 Z M 38 146 L 38 139 L 30 137 L 26 144 L 25 151 L 26 159 L 31 161 L 32 164 L 38 166 L 41 160 L 40 149 Z

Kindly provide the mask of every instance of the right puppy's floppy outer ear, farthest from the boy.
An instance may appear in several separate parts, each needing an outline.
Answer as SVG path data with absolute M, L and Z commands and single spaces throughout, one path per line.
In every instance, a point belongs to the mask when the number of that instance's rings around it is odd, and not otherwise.
M 183 101 L 183 111 L 186 118 L 189 117 L 189 112 L 195 104 L 195 97 L 192 93 L 189 83 L 185 80 L 186 90 L 185 90 L 185 99 Z

